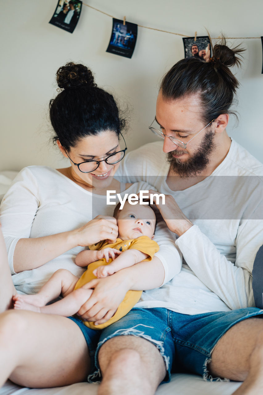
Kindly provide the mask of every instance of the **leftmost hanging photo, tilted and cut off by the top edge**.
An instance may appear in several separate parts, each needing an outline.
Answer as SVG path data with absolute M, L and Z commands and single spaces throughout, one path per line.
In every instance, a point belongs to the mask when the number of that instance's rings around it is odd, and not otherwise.
M 55 12 L 49 23 L 60 27 L 60 29 L 67 30 L 67 32 L 73 33 L 73 30 L 79 21 L 81 8 L 82 1 L 58 0 Z

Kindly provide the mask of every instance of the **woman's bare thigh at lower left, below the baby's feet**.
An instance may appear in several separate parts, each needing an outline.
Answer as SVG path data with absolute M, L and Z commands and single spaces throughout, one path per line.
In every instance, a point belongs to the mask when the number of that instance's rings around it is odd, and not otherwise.
M 86 381 L 88 347 L 69 318 L 8 310 L 0 314 L 0 333 L 0 386 L 8 377 L 36 388 Z

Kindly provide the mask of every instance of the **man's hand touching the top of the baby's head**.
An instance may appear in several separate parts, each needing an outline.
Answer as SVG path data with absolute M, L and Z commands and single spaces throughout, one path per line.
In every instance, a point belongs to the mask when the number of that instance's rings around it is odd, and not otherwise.
M 159 194 L 152 189 L 149 190 L 149 194 Z M 165 204 L 163 204 L 162 197 L 159 199 L 159 204 L 156 204 L 156 196 L 153 196 L 153 201 L 160 213 L 162 214 L 163 219 L 166 222 L 168 228 L 176 233 L 178 236 L 181 236 L 184 232 L 193 226 L 193 223 L 188 220 L 188 218 L 184 215 L 175 199 L 171 195 L 165 196 Z

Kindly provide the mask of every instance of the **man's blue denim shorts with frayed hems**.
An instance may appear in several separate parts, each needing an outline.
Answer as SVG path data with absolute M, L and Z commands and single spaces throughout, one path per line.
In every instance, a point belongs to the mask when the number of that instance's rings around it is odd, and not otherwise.
M 158 348 L 167 371 L 163 382 L 170 381 L 171 372 L 199 374 L 209 381 L 222 380 L 212 377 L 207 371 L 216 343 L 231 326 L 260 315 L 263 318 L 263 310 L 255 307 L 197 315 L 180 314 L 166 308 L 134 307 L 126 316 L 101 331 L 95 370 L 88 376 L 88 382 L 98 383 L 101 380 L 98 352 L 102 344 L 123 335 L 142 337 Z

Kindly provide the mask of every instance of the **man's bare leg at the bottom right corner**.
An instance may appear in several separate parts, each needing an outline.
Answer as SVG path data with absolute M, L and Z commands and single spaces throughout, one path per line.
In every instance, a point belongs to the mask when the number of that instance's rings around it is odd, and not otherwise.
M 263 393 L 263 319 L 231 327 L 214 348 L 208 369 L 214 377 L 244 381 L 233 395 Z

